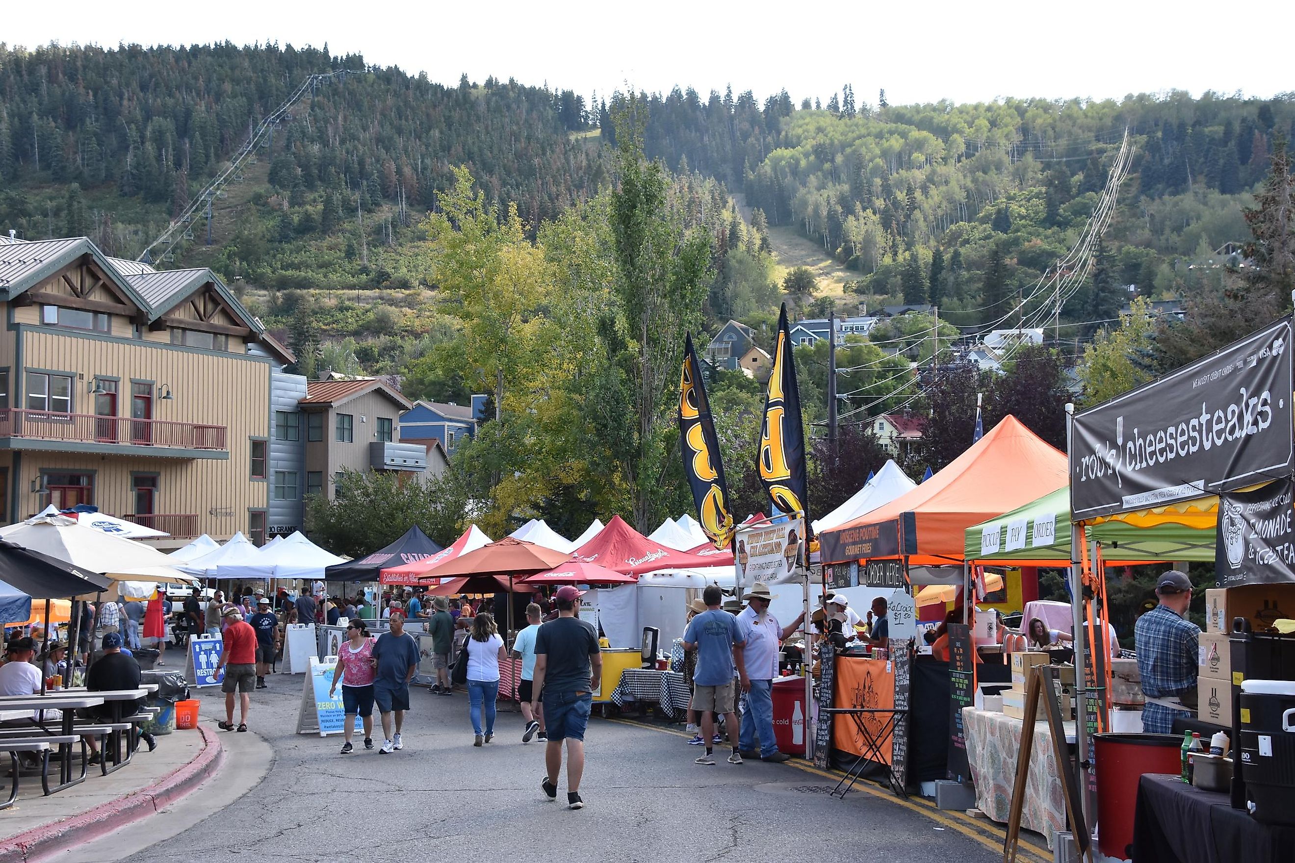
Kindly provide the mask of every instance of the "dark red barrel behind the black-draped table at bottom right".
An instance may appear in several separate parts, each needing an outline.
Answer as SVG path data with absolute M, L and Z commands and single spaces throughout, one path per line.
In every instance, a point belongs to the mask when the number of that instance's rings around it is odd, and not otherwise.
M 1133 857 L 1133 810 L 1142 774 L 1181 774 L 1182 737 L 1173 734 L 1093 735 L 1097 769 L 1097 849 Z

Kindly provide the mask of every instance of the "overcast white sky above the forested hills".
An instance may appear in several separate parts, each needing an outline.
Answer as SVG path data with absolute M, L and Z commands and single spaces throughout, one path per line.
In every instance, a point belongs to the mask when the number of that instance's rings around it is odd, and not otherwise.
M 277 41 L 359 52 L 370 63 L 455 83 L 467 72 L 588 96 L 628 82 L 679 84 L 704 97 L 729 83 L 759 98 L 783 87 L 824 102 L 851 83 L 856 98 L 891 104 L 1000 96 L 1120 98 L 1213 89 L 1273 96 L 1295 91 L 1289 53 L 1263 34 L 1290 31 L 1289 0 L 1220 6 L 1191 0 L 1089 3 L 765 4 L 645 3 L 60 3 L 9 4 L 0 40 L 237 44 Z M 1239 14 L 1233 26 L 1221 17 Z M 1264 43 L 1267 44 L 1267 48 Z

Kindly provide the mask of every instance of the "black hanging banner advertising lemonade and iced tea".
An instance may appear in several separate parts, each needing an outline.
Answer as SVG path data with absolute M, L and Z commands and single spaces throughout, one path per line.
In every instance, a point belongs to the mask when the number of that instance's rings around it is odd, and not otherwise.
M 1283 477 L 1252 492 L 1219 496 L 1215 572 L 1220 587 L 1295 581 L 1295 483 Z

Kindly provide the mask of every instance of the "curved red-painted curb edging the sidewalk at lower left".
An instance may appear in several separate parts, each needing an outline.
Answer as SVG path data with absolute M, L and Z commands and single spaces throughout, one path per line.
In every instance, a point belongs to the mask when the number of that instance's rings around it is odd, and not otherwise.
M 176 767 L 146 788 L 100 803 L 66 820 L 18 833 L 0 844 L 0 863 L 32 863 L 57 851 L 84 845 L 153 815 L 188 794 L 206 781 L 224 761 L 220 737 L 201 723 L 197 731 L 202 735 L 203 747 L 193 761 Z

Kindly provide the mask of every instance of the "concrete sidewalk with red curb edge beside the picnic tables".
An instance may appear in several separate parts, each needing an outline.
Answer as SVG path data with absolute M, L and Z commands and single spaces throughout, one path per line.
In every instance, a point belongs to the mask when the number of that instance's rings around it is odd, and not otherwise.
M 9 758 L 0 756 L 8 794 Z M 141 743 L 131 763 L 107 776 L 91 765 L 85 781 L 49 797 L 41 794 L 39 776 L 23 776 L 18 801 L 0 811 L 0 863 L 51 854 L 150 815 L 208 779 L 220 759 L 215 726 L 203 719 L 197 730 L 159 736 L 154 752 Z

